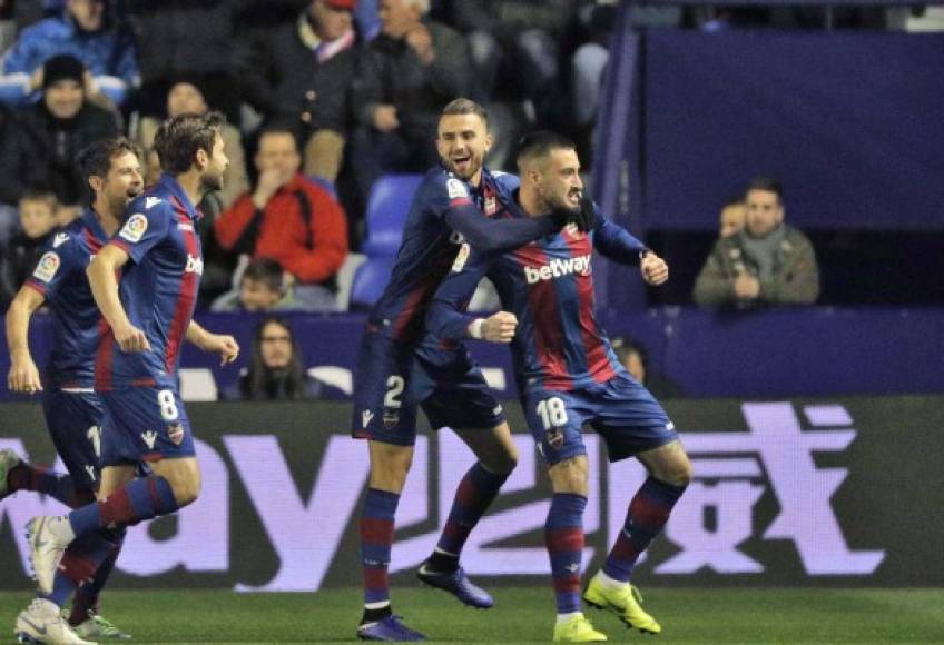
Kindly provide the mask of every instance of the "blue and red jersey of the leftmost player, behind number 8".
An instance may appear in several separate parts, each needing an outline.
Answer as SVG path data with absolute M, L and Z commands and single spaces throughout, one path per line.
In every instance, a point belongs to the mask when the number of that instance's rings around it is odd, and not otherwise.
M 108 241 L 98 217 L 86 209 L 47 242 L 26 286 L 39 291 L 52 316 L 47 377 L 53 388 L 92 387 L 95 350 L 108 324 L 98 311 L 86 268 Z

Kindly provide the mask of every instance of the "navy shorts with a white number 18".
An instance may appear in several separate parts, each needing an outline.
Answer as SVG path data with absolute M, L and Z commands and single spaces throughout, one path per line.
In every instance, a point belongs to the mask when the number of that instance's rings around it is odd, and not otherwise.
M 534 388 L 525 393 L 521 405 L 531 436 L 549 465 L 587 454 L 584 424 L 603 437 L 610 462 L 678 439 L 662 406 L 648 389 L 622 374 L 574 391 Z

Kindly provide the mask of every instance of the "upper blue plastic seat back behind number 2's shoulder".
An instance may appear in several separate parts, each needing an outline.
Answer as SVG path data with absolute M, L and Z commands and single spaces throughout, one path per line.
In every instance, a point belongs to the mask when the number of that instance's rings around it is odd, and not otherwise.
M 384 175 L 371 188 L 367 199 L 367 238 L 362 250 L 367 257 L 393 257 L 403 237 L 403 224 L 422 175 Z

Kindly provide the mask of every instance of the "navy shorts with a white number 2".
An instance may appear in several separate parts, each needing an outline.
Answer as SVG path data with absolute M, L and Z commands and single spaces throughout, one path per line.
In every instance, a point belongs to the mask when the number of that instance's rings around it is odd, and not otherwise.
M 491 429 L 504 421 L 501 405 L 464 345 L 415 346 L 365 333 L 354 375 L 352 436 L 412 446 L 419 407 L 435 429 Z

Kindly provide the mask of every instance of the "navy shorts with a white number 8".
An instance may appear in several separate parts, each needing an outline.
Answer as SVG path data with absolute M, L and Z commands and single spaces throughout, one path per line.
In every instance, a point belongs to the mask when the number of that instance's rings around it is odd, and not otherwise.
M 101 394 L 101 465 L 194 457 L 194 433 L 177 388 L 128 387 Z

